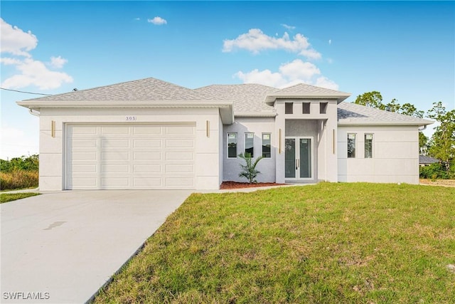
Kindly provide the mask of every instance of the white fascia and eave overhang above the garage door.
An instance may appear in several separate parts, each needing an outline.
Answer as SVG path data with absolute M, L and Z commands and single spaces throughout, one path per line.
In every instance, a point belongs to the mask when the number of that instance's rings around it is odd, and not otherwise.
M 43 108 L 218 108 L 223 124 L 230 125 L 234 122 L 232 101 L 207 101 L 207 100 L 95 100 L 95 101 L 46 101 L 23 100 L 16 102 L 30 110 Z

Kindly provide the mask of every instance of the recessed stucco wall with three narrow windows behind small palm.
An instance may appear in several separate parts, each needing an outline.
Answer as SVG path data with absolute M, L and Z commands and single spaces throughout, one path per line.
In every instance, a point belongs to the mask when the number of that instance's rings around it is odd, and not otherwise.
M 255 133 L 255 156 L 262 155 L 262 133 L 271 133 L 271 154 L 270 158 L 263 158 L 257 164 L 257 169 L 261 172 L 257 176 L 257 182 L 275 182 L 275 155 L 277 154 L 278 135 L 274 132 L 274 117 L 235 117 L 232 125 L 225 125 L 223 132 L 223 158 L 224 174 L 223 180 L 245 182 L 245 178 L 240 178 L 240 164 L 244 160 L 228 158 L 228 133 L 237 133 L 237 154 L 245 152 L 245 132 Z

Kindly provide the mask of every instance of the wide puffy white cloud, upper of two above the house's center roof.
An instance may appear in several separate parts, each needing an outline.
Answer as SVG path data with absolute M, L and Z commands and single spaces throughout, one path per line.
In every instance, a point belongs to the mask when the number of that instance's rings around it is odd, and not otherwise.
M 321 53 L 311 48 L 308 39 L 301 33 L 297 33 L 292 39 L 288 33 L 284 33 L 281 38 L 267 36 L 259 28 L 252 28 L 248 33 L 243 33 L 235 39 L 223 41 L 223 52 L 230 52 L 236 48 L 245 49 L 252 53 L 259 53 L 267 49 L 282 49 L 293 53 L 298 53 L 309 59 L 321 58 Z

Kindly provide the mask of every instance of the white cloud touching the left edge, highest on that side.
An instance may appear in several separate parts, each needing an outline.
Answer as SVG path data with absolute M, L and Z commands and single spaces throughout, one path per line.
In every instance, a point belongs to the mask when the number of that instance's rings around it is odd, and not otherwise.
M 30 57 L 28 51 L 36 48 L 38 39 L 31 31 L 27 33 L 17 26 L 11 26 L 0 18 L 0 50 L 1 53 L 11 53 L 16 56 Z

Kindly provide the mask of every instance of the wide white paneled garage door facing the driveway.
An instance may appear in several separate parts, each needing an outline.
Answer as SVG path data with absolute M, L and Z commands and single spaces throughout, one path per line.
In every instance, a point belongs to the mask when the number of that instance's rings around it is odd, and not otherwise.
M 65 189 L 194 189 L 194 124 L 67 125 L 65 134 Z

